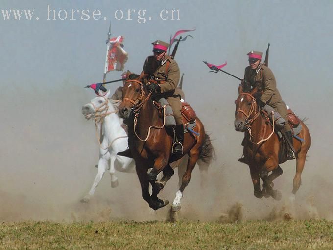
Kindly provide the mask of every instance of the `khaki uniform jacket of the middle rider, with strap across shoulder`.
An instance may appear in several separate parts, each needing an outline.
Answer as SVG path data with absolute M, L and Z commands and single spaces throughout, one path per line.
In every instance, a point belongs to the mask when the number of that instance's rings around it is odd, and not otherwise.
M 161 81 L 161 93 L 163 97 L 170 97 L 173 95 L 180 95 L 177 85 L 180 79 L 180 70 L 175 60 L 166 55 L 166 62 L 161 65 L 157 62 L 154 56 L 148 56 L 143 65 L 144 74 L 151 75 L 154 80 Z M 167 61 L 170 62 L 168 72 L 166 73 Z M 167 79 L 166 79 L 167 74 Z

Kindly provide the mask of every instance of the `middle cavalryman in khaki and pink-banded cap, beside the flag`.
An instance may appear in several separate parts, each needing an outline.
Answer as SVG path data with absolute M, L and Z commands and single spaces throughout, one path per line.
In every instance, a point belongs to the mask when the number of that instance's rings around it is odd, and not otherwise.
M 180 79 L 178 64 L 167 55 L 169 44 L 157 40 L 153 44 L 154 55 L 148 56 L 143 65 L 140 79 L 147 80 L 148 91 L 153 90 L 159 98 L 165 98 L 170 104 L 176 121 L 175 133 L 177 142 L 173 145 L 173 153 L 183 154 L 184 125 L 181 114 L 181 92 L 177 88 Z M 119 152 L 118 155 L 131 157 L 130 150 Z

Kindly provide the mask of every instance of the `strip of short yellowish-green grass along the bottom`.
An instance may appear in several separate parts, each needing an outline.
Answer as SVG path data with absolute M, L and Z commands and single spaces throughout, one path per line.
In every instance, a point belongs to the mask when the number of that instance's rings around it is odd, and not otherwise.
M 0 249 L 333 249 L 333 222 L 2 222 L 0 242 Z

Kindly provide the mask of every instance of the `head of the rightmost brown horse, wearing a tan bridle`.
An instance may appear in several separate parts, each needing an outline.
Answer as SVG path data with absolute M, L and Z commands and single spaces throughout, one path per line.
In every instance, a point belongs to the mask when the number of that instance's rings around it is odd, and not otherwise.
M 259 108 L 253 94 L 257 92 L 257 88 L 250 93 L 243 92 L 242 88 L 238 89 L 239 96 L 235 100 L 235 129 L 236 131 L 244 132 L 259 114 Z

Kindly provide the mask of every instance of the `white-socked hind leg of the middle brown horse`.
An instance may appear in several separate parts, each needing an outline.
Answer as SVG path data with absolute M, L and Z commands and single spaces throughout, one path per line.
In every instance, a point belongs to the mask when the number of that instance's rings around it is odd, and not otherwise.
M 176 192 L 176 197 L 172 202 L 172 212 L 177 212 L 181 208 L 180 200 L 183 197 L 183 191 L 191 180 L 192 170 L 194 169 L 194 166 L 198 161 L 198 159 L 199 159 L 199 149 L 190 150 L 187 169 L 182 178 L 182 185 L 180 186 L 179 190 Z

